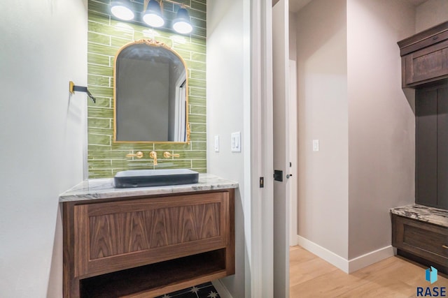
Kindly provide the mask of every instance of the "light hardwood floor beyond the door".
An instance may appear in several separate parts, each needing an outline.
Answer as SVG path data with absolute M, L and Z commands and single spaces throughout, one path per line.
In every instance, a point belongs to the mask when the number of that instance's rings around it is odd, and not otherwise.
M 416 297 L 416 288 L 446 287 L 439 274 L 432 285 L 426 267 L 392 257 L 346 274 L 300 246 L 290 248 L 290 297 Z M 448 295 L 448 292 L 447 292 Z M 440 295 L 439 295 L 440 296 Z

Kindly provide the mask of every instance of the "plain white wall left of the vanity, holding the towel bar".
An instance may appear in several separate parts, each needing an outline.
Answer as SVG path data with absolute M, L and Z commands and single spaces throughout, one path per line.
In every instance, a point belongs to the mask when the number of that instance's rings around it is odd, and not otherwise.
M 58 195 L 83 179 L 87 1 L 0 10 L 0 297 L 62 297 Z

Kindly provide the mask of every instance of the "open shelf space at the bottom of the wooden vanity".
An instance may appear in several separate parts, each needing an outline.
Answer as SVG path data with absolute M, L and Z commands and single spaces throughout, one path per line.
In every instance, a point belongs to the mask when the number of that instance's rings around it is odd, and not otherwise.
M 155 297 L 227 275 L 219 249 L 82 279 L 80 297 Z

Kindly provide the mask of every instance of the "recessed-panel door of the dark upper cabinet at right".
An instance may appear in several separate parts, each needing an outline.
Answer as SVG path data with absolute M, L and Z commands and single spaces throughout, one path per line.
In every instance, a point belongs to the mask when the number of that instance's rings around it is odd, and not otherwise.
M 440 80 L 448 76 L 448 40 L 403 57 L 403 87 Z

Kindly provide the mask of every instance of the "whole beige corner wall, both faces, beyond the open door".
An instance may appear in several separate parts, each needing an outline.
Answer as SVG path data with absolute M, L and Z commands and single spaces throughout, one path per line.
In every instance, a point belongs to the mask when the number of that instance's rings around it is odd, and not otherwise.
M 399 0 L 314 0 L 297 13 L 300 236 L 351 260 L 391 244 L 391 207 L 414 202 L 412 92 Z M 321 151 L 311 150 L 319 139 Z

